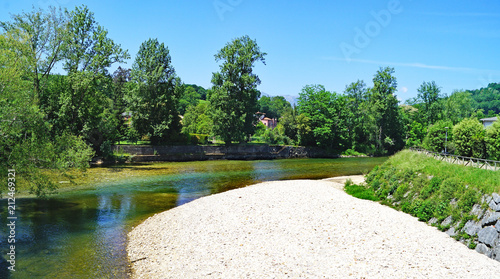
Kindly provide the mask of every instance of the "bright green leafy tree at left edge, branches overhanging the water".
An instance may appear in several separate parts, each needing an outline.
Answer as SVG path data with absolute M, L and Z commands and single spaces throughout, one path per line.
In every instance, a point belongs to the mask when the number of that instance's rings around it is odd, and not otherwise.
M 51 124 L 38 105 L 29 59 L 30 34 L 10 30 L 0 35 L 0 170 L 16 169 L 19 188 L 37 196 L 56 189 L 44 169 L 85 169 L 93 151 L 75 135 L 53 136 Z M 0 193 L 2 192 L 0 187 Z

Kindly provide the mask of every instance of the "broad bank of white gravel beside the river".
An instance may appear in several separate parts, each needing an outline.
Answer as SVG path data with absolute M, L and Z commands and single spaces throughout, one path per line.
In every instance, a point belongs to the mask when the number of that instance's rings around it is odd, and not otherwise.
M 499 278 L 494 261 L 331 181 L 197 199 L 129 233 L 134 278 Z

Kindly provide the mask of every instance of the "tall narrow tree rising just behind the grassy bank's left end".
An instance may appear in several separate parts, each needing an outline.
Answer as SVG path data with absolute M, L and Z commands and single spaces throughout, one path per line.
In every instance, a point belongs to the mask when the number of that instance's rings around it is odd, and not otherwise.
M 396 99 L 397 81 L 394 68 L 386 67 L 373 77 L 369 106 L 374 120 L 373 139 L 379 152 L 389 154 L 403 147 L 402 127 Z

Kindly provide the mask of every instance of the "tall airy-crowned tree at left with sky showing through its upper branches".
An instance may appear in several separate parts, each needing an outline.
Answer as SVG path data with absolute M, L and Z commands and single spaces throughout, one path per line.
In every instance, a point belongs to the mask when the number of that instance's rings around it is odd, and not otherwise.
M 101 152 L 101 145 L 115 137 L 119 125 L 113 115 L 108 68 L 113 63 L 124 62 L 129 55 L 108 37 L 108 32 L 86 6 L 66 14 L 69 35 L 65 38 L 62 62 L 68 74 L 60 80 L 58 94 L 45 90 L 43 99 L 57 99 L 58 106 L 53 107 L 56 117 L 52 122 L 58 134 L 81 135 Z

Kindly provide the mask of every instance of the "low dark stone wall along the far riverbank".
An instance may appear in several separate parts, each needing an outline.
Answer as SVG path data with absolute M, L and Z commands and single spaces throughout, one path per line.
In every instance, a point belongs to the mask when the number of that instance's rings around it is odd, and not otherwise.
M 268 160 L 287 158 L 338 158 L 324 150 L 302 146 L 231 145 L 231 146 L 150 146 L 115 145 L 114 152 L 132 155 L 132 162 L 204 161 L 204 160 Z

